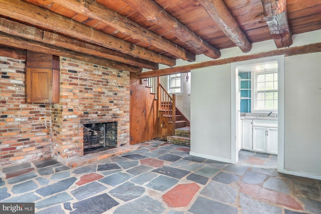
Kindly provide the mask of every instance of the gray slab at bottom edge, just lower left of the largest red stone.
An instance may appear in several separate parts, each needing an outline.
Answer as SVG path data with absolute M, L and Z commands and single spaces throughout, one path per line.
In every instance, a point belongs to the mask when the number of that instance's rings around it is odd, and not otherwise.
M 161 202 L 151 197 L 143 196 L 117 207 L 113 214 L 162 214 L 164 211 L 165 207 Z

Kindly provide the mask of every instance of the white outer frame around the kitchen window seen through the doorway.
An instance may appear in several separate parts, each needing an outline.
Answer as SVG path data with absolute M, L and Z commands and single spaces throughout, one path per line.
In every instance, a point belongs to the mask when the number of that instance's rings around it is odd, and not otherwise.
M 254 80 L 251 82 L 251 88 L 254 90 L 251 90 L 251 112 L 277 112 L 278 111 L 278 106 L 276 108 L 273 109 L 258 109 L 257 108 L 257 76 L 259 74 L 270 74 L 270 73 L 278 73 L 278 69 L 271 69 L 269 71 L 252 71 L 251 72 L 251 79 Z M 273 90 L 261 90 L 259 92 L 278 92 L 278 89 L 273 89 Z M 278 100 L 278 99 L 276 99 Z

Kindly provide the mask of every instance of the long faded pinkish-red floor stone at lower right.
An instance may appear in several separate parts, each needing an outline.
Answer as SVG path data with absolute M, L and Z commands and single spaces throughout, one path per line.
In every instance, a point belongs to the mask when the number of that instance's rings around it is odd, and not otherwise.
M 276 203 L 296 210 L 303 210 L 302 206 L 290 195 L 269 190 L 258 185 L 240 183 L 241 192 L 257 198 L 258 200 Z

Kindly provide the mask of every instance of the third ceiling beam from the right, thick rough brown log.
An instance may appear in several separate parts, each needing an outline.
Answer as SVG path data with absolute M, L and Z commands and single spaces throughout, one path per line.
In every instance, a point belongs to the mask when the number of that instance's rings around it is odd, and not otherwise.
M 162 26 L 166 31 L 173 33 L 179 40 L 190 48 L 202 52 L 204 55 L 217 59 L 221 52 L 194 34 L 187 26 L 165 11 L 152 0 L 122 0 L 144 16 L 148 22 Z

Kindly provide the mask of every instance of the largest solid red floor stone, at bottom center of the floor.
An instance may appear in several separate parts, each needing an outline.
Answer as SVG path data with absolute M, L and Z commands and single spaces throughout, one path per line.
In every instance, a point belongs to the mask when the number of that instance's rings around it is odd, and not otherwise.
M 170 207 L 188 206 L 200 188 L 196 183 L 179 184 L 166 192 L 162 198 Z

